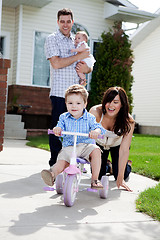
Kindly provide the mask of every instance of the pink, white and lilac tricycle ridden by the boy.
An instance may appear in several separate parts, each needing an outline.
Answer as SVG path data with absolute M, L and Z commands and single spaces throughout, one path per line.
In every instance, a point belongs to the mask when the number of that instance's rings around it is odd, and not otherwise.
M 52 130 L 48 130 L 48 134 L 54 134 Z M 74 146 L 73 146 L 73 152 L 70 159 L 70 165 L 67 167 L 63 173 L 59 174 L 56 177 L 56 191 L 58 194 L 63 194 L 64 197 L 64 204 L 67 207 L 71 207 L 74 205 L 75 199 L 76 199 L 76 193 L 78 192 L 78 186 L 81 181 L 81 168 L 77 167 L 78 164 L 89 164 L 88 161 L 82 158 L 77 158 L 76 156 L 76 142 L 77 142 L 77 136 L 84 136 L 88 137 L 89 134 L 86 133 L 77 133 L 77 132 L 66 132 L 62 131 L 62 135 L 73 135 L 74 136 Z M 103 137 L 103 135 L 99 136 L 100 138 Z M 103 189 L 96 190 L 87 188 L 87 191 L 93 191 L 93 192 L 99 192 L 100 198 L 107 198 L 108 195 L 108 189 L 109 189 L 109 177 L 108 176 L 102 176 L 101 183 L 103 185 Z

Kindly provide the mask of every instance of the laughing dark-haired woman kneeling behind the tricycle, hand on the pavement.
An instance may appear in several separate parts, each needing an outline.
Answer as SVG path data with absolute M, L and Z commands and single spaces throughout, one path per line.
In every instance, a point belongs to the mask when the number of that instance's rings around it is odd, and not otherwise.
M 129 148 L 134 131 L 134 120 L 129 114 L 129 104 L 126 92 L 121 87 L 109 88 L 103 96 L 102 104 L 92 107 L 89 111 L 97 122 L 117 134 L 116 138 L 97 139 L 97 144 L 102 149 L 102 164 L 99 179 L 106 174 L 107 158 L 109 152 L 112 158 L 112 171 L 117 181 L 117 187 L 124 187 L 131 191 L 125 184 L 131 172 L 131 161 L 128 163 Z

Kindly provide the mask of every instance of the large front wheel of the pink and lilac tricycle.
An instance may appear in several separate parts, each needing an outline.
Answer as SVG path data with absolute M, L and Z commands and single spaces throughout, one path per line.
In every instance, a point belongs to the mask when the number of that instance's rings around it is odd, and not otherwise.
M 75 174 L 68 175 L 65 180 L 64 191 L 63 191 L 64 204 L 67 207 L 73 206 L 77 191 L 78 191 L 78 182 L 77 182 L 76 175 Z

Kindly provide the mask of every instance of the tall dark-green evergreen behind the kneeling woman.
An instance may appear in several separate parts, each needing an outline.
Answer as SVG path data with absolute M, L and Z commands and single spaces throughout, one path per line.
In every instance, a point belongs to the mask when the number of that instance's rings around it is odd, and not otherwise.
M 103 94 L 109 87 L 120 86 L 125 89 L 132 109 L 133 52 L 129 37 L 123 31 L 121 22 L 115 22 L 113 30 L 103 32 L 101 38 L 102 42 L 96 48 L 89 108 L 101 103 Z

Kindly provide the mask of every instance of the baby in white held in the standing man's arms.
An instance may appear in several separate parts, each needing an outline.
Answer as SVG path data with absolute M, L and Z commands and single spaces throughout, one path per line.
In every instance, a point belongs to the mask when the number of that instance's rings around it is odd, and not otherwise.
M 71 49 L 71 52 L 83 52 L 86 49 L 88 49 L 88 51 L 90 51 L 90 47 L 87 44 L 88 42 L 88 35 L 85 31 L 79 31 L 76 33 L 75 36 L 75 49 Z M 96 62 L 96 60 L 94 59 L 93 55 L 90 54 L 88 58 L 83 59 L 82 61 L 84 61 L 87 66 L 89 68 L 93 68 L 94 63 Z M 79 73 L 78 72 L 78 76 L 80 77 L 80 84 L 81 85 L 86 85 L 86 76 L 84 73 Z

